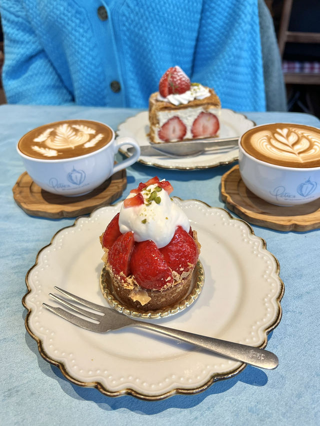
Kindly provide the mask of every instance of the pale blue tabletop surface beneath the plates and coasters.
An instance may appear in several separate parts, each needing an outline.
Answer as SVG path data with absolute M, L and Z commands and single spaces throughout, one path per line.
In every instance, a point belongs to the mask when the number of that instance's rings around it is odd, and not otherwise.
M 237 376 L 213 384 L 205 392 L 164 401 L 130 396 L 108 398 L 95 389 L 67 381 L 44 361 L 24 328 L 21 298 L 24 277 L 37 252 L 73 219 L 31 217 L 14 202 L 12 187 L 24 171 L 15 150 L 28 130 L 62 119 L 93 119 L 114 129 L 138 110 L 88 107 L 0 106 L 1 166 L 1 407 L 2 425 L 316 425 L 319 411 L 320 231 L 278 232 L 253 226 L 280 264 L 285 285 L 282 320 L 267 349 L 279 358 L 272 371 L 246 367 Z M 311 115 L 245 113 L 257 124 L 284 121 L 320 127 Z M 120 155 L 120 154 L 118 154 Z M 127 169 L 128 191 L 154 175 L 165 177 L 180 198 L 196 198 L 225 207 L 221 176 L 233 164 L 196 171 L 163 170 L 134 164 Z M 174 195 L 172 194 L 172 195 Z M 122 197 L 122 198 L 123 198 Z

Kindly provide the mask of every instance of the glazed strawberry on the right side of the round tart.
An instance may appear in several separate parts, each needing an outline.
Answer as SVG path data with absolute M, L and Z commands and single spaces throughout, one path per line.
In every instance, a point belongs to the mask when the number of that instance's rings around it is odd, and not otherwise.
M 176 228 L 172 240 L 160 252 L 167 265 L 179 275 L 189 271 L 199 255 L 193 238 L 181 226 Z

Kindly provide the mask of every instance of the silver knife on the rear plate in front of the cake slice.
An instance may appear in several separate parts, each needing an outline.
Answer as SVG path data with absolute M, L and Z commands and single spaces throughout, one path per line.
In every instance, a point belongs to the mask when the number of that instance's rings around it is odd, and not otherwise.
M 237 147 L 238 137 L 223 139 L 206 139 L 186 142 L 164 142 L 152 143 L 140 146 L 140 155 L 169 155 L 172 157 L 187 157 L 200 154 L 204 151 L 221 152 Z M 133 152 L 133 148 L 127 149 L 128 153 Z

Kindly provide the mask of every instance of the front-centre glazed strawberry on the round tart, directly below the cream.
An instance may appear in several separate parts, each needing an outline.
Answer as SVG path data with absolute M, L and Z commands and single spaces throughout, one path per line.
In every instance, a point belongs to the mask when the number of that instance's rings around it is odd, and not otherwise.
M 159 290 L 173 282 L 170 268 L 150 240 L 134 244 L 129 269 L 138 285 L 145 289 Z

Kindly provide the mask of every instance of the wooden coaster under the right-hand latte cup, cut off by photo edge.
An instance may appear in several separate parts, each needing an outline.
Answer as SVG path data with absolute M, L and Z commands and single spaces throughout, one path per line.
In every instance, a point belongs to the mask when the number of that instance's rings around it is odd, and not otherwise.
M 247 189 L 238 165 L 222 176 L 221 196 L 229 210 L 253 225 L 299 232 L 320 228 L 320 199 L 294 207 L 267 203 Z

